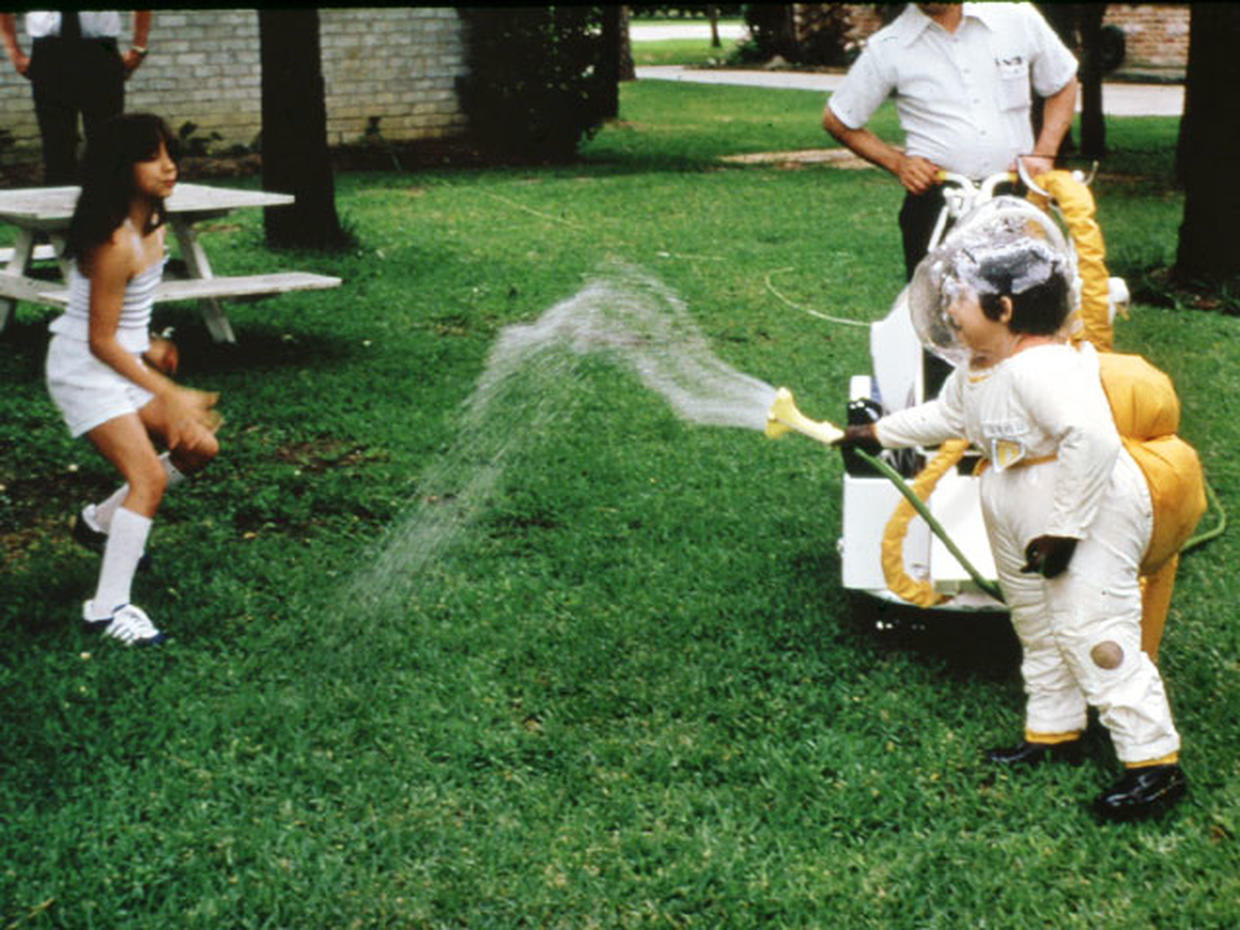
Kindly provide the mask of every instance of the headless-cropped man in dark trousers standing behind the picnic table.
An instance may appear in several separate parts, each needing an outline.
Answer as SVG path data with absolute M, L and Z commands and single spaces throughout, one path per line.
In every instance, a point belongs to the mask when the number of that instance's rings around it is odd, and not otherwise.
M 14 69 L 30 81 L 33 92 L 46 184 L 78 181 L 79 115 L 89 141 L 98 126 L 124 112 L 125 79 L 146 57 L 150 20 L 150 10 L 134 11 L 133 43 L 122 55 L 117 47 L 119 12 L 31 11 L 26 14 L 27 57 L 12 14 L 0 14 L 0 41 Z

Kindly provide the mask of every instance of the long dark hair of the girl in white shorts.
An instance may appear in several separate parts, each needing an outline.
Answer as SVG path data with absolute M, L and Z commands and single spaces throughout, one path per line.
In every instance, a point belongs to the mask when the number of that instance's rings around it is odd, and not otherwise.
M 171 155 L 175 140 L 167 124 L 149 113 L 115 117 L 87 143 L 82 193 L 73 208 L 66 257 L 82 259 L 112 238 L 129 215 L 134 197 L 134 165 L 155 157 L 160 143 Z M 143 234 L 157 229 L 166 218 L 164 201 L 157 200 Z

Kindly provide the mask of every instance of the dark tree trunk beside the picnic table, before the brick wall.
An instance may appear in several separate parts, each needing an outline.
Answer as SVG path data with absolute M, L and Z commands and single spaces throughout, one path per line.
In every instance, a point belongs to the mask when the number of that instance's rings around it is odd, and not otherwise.
M 275 248 L 334 249 L 347 244 L 336 216 L 327 153 L 319 12 L 258 11 L 263 68 L 263 187 L 296 202 L 263 211 L 267 243 Z

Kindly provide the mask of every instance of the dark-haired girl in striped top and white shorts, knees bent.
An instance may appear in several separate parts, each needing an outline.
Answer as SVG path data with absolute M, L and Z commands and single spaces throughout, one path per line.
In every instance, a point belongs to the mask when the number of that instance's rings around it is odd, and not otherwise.
M 88 629 L 125 644 L 164 635 L 129 603 L 134 572 L 165 489 L 218 451 L 216 394 L 176 386 L 171 343 L 149 336 L 164 269 L 164 200 L 176 184 L 171 135 L 157 117 L 118 117 L 88 146 L 66 255 L 69 303 L 51 324 L 47 388 L 69 432 L 86 435 L 125 484 L 87 507 L 74 536 L 105 538 Z M 145 358 L 144 358 L 145 356 Z M 169 451 L 159 455 L 151 439 Z

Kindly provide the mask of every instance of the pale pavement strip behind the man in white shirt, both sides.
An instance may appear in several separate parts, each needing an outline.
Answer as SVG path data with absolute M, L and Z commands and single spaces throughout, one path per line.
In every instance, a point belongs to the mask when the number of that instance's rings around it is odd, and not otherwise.
M 647 64 L 637 68 L 645 81 L 686 81 L 699 84 L 743 84 L 828 93 L 843 74 L 802 71 L 732 71 Z M 1078 109 L 1080 104 L 1078 103 Z M 1102 112 L 1109 117 L 1178 117 L 1184 110 L 1182 84 L 1102 84 Z

